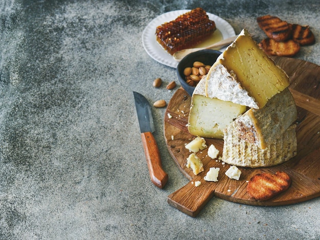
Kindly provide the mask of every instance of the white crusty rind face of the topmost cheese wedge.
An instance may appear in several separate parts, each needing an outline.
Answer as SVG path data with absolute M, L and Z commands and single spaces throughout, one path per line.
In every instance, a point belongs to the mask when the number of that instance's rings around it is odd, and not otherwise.
M 210 68 L 205 83 L 205 95 L 209 98 L 217 98 L 230 101 L 250 108 L 259 108 L 248 91 L 241 87 L 237 76 L 230 72 L 220 63 Z

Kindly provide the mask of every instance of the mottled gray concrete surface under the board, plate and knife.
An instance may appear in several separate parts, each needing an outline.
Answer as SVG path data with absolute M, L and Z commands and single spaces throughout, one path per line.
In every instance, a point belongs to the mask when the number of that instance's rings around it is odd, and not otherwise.
M 213 198 L 196 218 L 169 206 L 188 180 L 165 145 L 165 109 L 153 115 L 169 181 L 151 183 L 132 90 L 169 102 L 177 77 L 141 36 L 159 14 L 195 7 L 260 39 L 259 15 L 310 25 L 316 43 L 295 58 L 320 64 L 317 0 L 0 2 L 0 239 L 320 239 L 318 198 Z

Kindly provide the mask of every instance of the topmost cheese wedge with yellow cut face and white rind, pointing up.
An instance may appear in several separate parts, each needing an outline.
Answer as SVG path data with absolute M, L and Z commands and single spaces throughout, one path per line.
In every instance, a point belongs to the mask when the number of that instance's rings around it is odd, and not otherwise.
M 243 29 L 210 68 L 205 95 L 260 109 L 288 86 L 285 71 Z

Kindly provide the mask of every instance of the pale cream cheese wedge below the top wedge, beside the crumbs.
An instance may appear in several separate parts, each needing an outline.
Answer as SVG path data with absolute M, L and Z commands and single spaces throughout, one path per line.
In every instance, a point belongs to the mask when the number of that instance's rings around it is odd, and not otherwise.
M 188 130 L 194 136 L 222 139 L 223 129 L 245 112 L 246 107 L 205 97 L 204 86 L 205 78 L 202 78 L 192 94 Z

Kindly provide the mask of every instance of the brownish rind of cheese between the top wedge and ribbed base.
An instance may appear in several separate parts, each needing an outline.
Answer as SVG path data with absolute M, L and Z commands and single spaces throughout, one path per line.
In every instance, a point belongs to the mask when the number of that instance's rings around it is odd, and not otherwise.
M 262 109 L 249 109 L 235 120 L 239 138 L 265 149 L 296 120 L 296 106 L 288 88 L 272 97 Z

